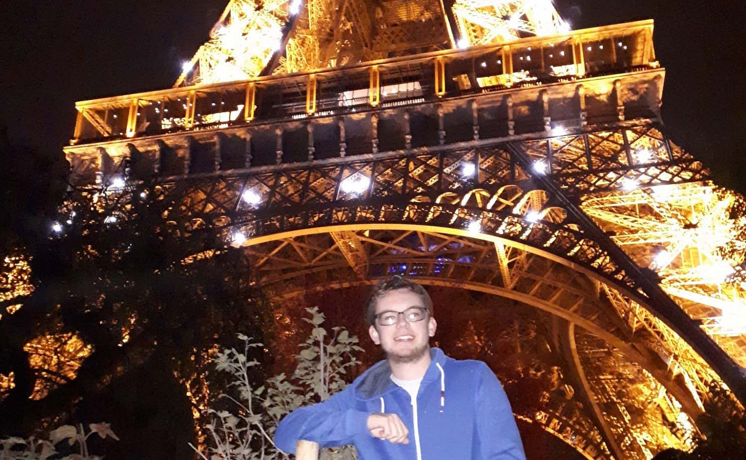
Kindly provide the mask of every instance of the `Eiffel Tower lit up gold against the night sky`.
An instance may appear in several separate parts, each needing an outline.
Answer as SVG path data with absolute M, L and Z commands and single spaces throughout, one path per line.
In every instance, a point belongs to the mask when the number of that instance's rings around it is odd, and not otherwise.
M 521 375 L 551 375 L 537 337 L 563 363 L 520 420 L 649 459 L 746 402 L 746 208 L 666 136 L 652 37 L 550 0 L 231 0 L 172 88 L 78 102 L 66 157 L 80 186 L 157 177 L 274 300 L 478 294 Z

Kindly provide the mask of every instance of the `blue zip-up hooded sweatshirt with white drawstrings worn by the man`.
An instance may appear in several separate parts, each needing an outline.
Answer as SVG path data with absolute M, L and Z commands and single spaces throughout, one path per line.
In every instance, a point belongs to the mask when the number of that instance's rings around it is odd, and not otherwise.
M 360 460 L 525 460 L 510 403 L 487 365 L 449 358 L 439 348 L 430 356 L 414 403 L 381 361 L 328 400 L 283 418 L 275 444 L 286 453 L 295 453 L 299 439 L 354 444 Z M 398 415 L 410 443 L 374 438 L 367 424 L 375 412 Z

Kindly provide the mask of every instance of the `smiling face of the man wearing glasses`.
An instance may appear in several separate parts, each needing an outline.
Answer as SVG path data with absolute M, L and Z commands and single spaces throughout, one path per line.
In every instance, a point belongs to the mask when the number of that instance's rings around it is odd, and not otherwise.
M 404 312 L 412 307 L 425 308 L 419 295 L 409 289 L 386 292 L 377 302 L 375 314 L 380 312 Z M 381 326 L 374 322 L 369 334 L 375 344 L 380 345 L 388 359 L 398 362 L 416 362 L 430 350 L 430 337 L 435 335 L 435 318 L 427 313 L 422 321 L 409 323 L 404 315 L 398 315 L 396 324 Z

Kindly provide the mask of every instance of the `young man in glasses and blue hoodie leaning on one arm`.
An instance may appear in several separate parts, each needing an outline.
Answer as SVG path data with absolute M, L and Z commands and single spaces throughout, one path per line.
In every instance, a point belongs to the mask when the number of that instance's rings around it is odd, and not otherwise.
M 386 353 L 343 391 L 287 415 L 275 444 L 354 444 L 364 460 L 524 460 L 515 418 L 495 374 L 430 348 L 433 303 L 395 276 L 373 289 L 369 334 Z

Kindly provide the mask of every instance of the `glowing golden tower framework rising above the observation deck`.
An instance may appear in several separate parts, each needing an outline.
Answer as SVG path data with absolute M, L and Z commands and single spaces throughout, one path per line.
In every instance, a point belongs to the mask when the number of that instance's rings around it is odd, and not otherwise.
M 551 0 L 231 0 L 174 86 L 568 31 Z

